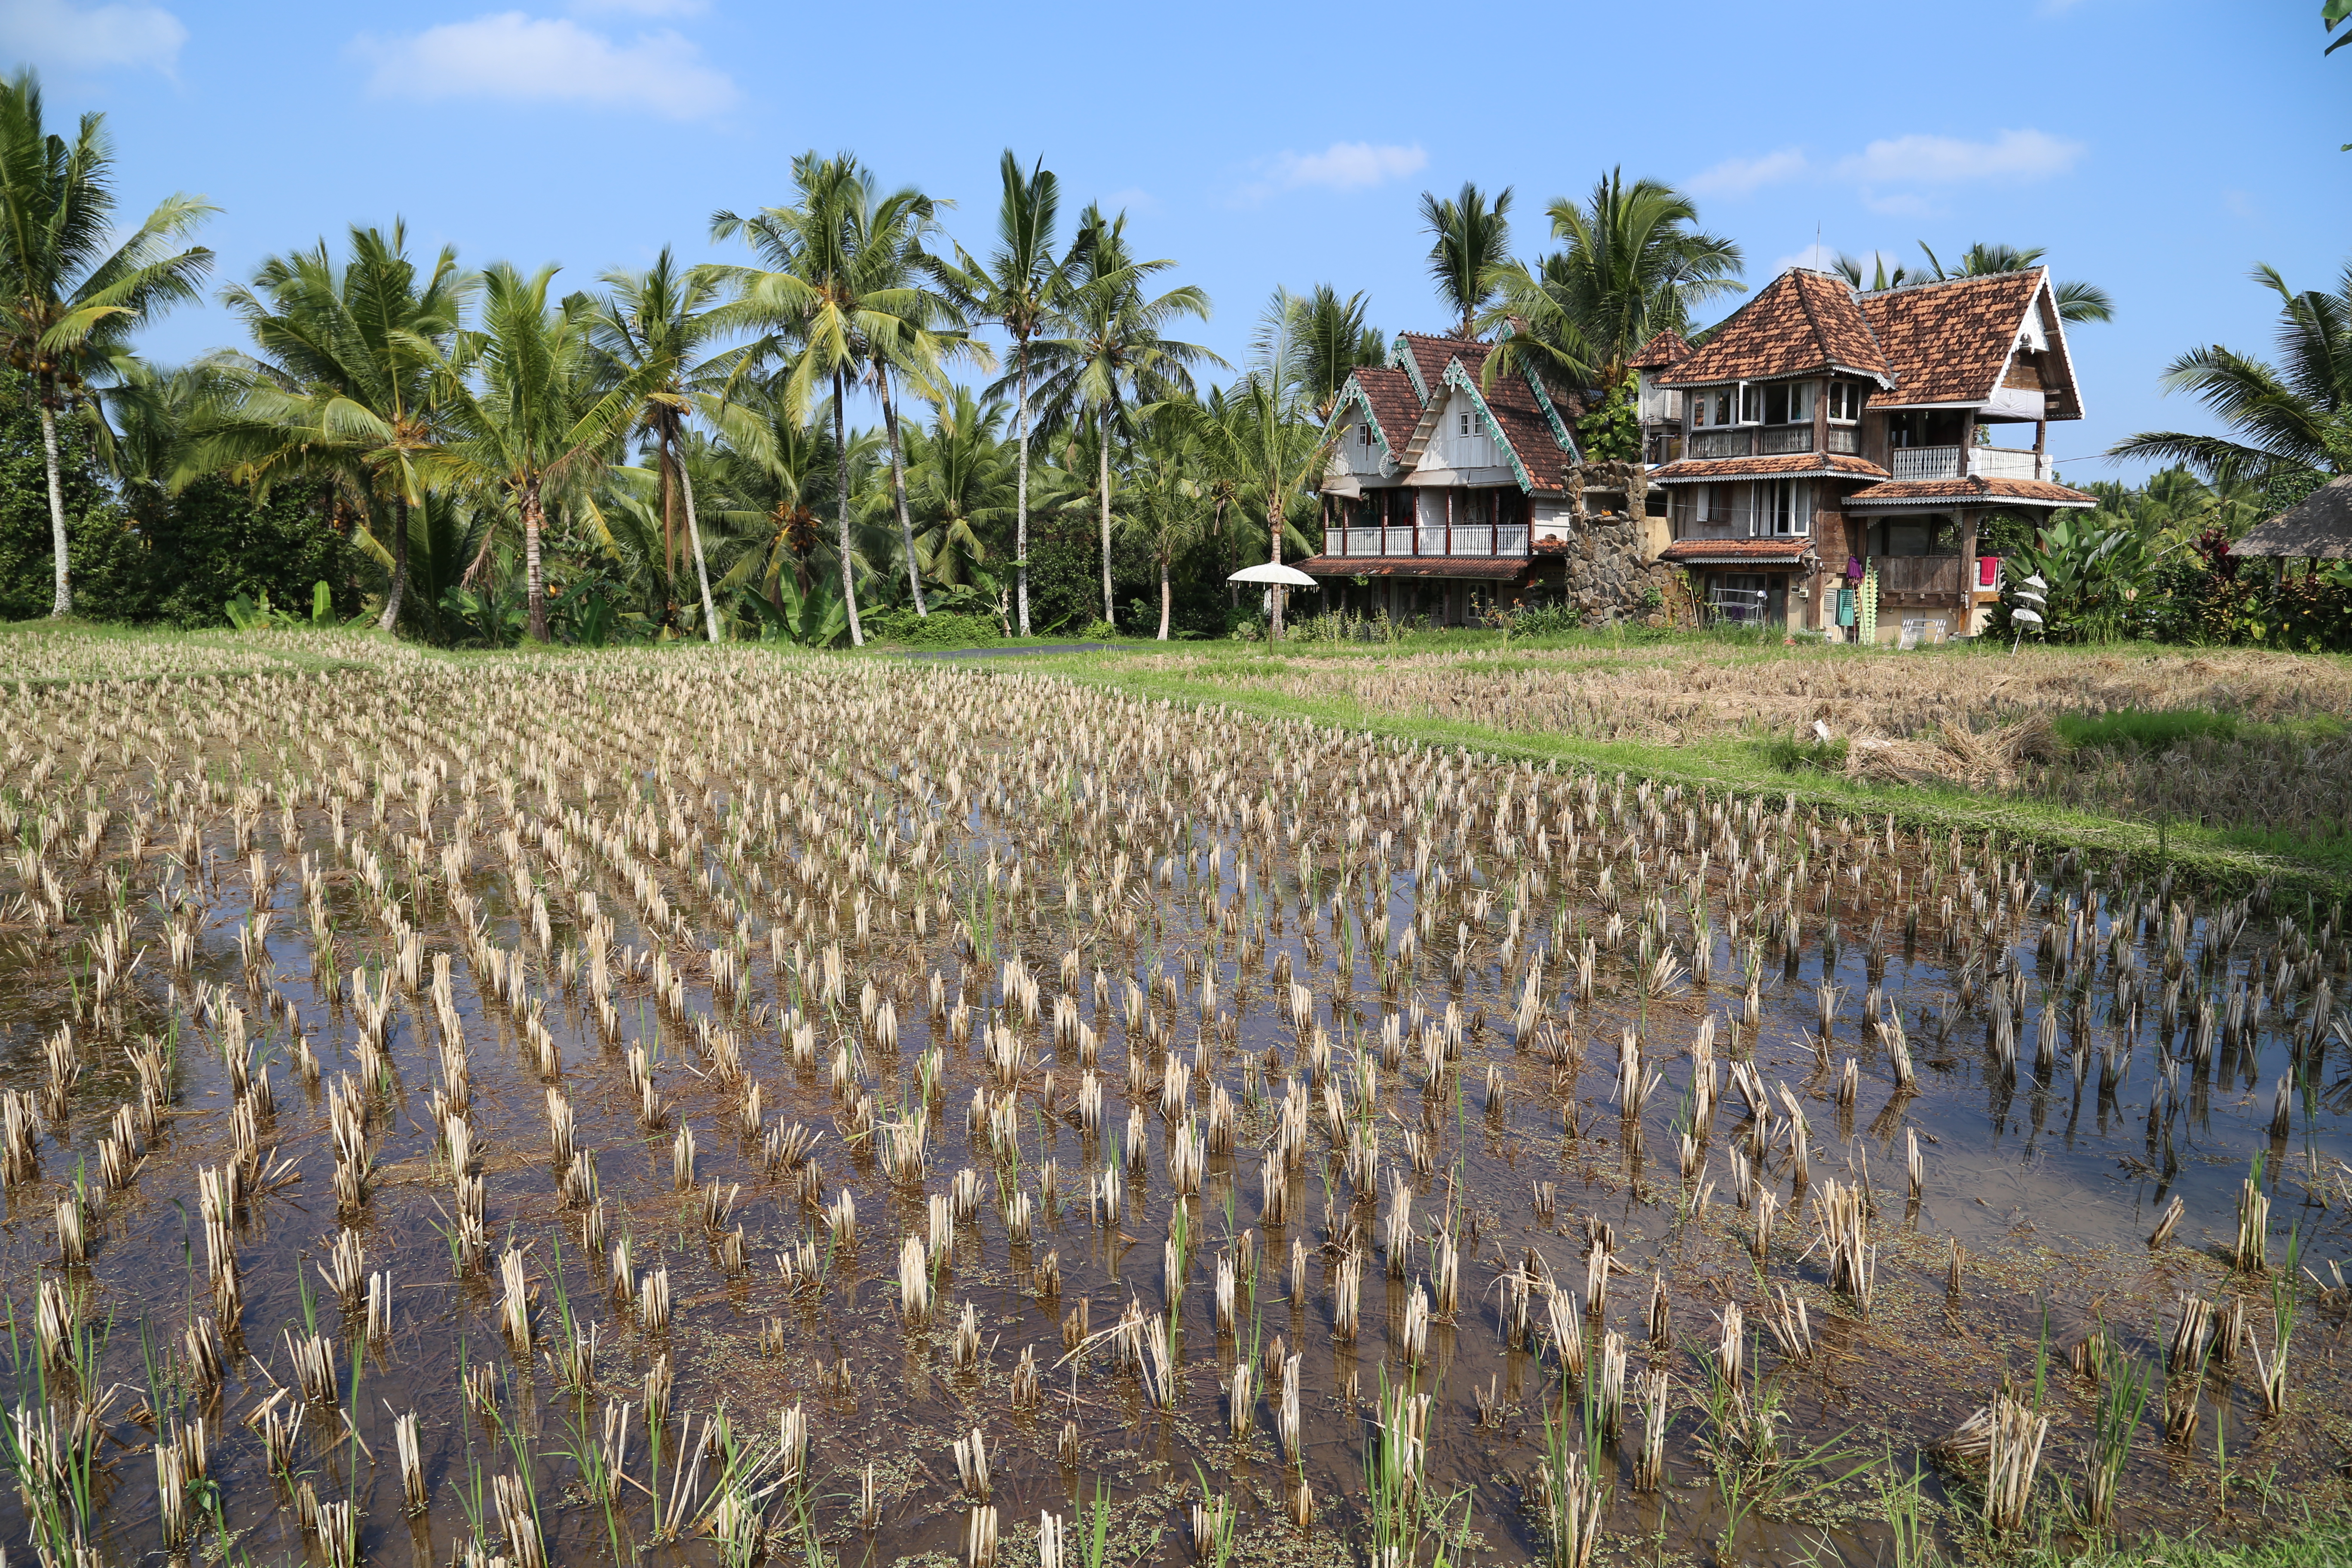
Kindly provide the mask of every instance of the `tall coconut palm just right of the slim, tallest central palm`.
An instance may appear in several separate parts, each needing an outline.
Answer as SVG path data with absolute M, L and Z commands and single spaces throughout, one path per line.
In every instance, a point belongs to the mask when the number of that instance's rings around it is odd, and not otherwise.
M 1091 423 L 1096 435 L 1103 529 L 1103 621 L 1117 625 L 1110 597 L 1110 444 L 1129 409 L 1192 390 L 1192 364 L 1223 364 L 1200 343 L 1178 343 L 1164 327 L 1209 317 L 1209 296 L 1178 284 L 1152 296 L 1145 284 L 1174 261 L 1136 261 L 1127 249 L 1127 214 L 1105 219 L 1087 207 L 1063 261 L 1068 289 L 1054 334 L 1037 343 L 1040 397 L 1051 423 Z

